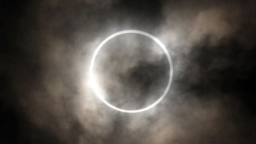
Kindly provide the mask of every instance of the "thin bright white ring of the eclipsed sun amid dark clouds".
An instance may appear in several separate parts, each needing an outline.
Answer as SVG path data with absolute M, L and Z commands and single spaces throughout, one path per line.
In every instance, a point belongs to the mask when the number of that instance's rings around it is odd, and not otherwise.
M 95 82 L 94 79 L 94 75 L 93 75 L 93 65 L 94 65 L 94 60 L 95 57 L 97 55 L 97 53 L 99 52 L 100 48 L 110 39 L 112 39 L 113 37 L 116 37 L 117 35 L 122 35 L 122 34 L 126 34 L 126 33 L 136 33 L 136 34 L 141 34 L 141 35 L 145 35 L 147 37 L 150 37 L 152 40 L 154 40 L 155 42 L 157 42 L 158 45 L 160 45 L 160 47 L 162 47 L 162 49 L 164 50 L 165 54 L 167 55 L 168 61 L 169 61 L 169 65 L 170 65 L 170 77 L 169 77 L 169 82 L 167 84 L 167 88 L 165 89 L 164 93 L 162 94 L 162 96 L 153 104 L 151 104 L 148 107 L 145 107 L 143 109 L 137 109 L 137 110 L 125 110 L 125 109 L 119 109 L 117 107 L 114 107 L 113 105 L 109 104 L 103 97 L 102 94 L 99 93 L 99 91 L 97 90 L 97 84 Z M 173 66 L 172 66 L 172 61 L 171 61 L 171 56 L 168 52 L 168 50 L 166 49 L 166 47 L 164 46 L 164 44 L 162 42 L 160 42 L 160 40 L 158 40 L 156 37 L 154 37 L 153 35 L 150 35 L 147 32 L 143 32 L 143 31 L 139 31 L 139 30 L 124 30 L 124 31 L 120 31 L 120 32 L 116 32 L 112 35 L 110 35 L 109 37 L 107 37 L 105 40 L 103 40 L 100 45 L 97 47 L 97 49 L 95 50 L 93 56 L 92 56 L 92 61 L 91 61 L 91 65 L 90 65 L 90 75 L 89 75 L 89 80 L 90 80 L 90 84 L 94 90 L 94 92 L 97 94 L 97 96 L 99 97 L 99 99 L 102 100 L 102 102 L 104 102 L 105 104 L 107 104 L 109 107 L 111 107 L 112 109 L 118 110 L 120 112 L 127 112 L 127 113 L 136 113 L 136 112 L 143 112 L 146 111 L 148 109 L 151 109 L 152 107 L 156 106 L 159 102 L 162 101 L 162 99 L 166 96 L 167 92 L 169 91 L 169 88 L 171 87 L 171 81 L 172 81 L 172 75 L 173 75 Z

